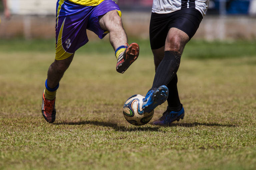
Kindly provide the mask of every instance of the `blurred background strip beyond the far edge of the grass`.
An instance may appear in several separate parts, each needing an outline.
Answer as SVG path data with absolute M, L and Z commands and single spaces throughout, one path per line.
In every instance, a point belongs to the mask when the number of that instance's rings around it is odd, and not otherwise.
M 149 38 L 152 2 L 153 0 L 117 1 L 128 36 Z M 10 19 L 4 17 L 3 4 L 0 3 L 0 39 L 55 37 L 56 1 L 7 0 L 7 4 Z M 98 39 L 94 34 L 88 34 L 90 40 Z M 256 0 L 210 0 L 207 14 L 193 39 L 255 40 Z

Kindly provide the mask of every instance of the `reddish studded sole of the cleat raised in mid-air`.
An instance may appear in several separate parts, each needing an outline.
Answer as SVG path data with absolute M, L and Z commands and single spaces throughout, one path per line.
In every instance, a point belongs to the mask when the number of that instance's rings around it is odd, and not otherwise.
M 125 50 L 125 60 L 116 67 L 116 71 L 124 73 L 128 67 L 138 58 L 139 56 L 139 45 L 137 43 L 131 43 Z

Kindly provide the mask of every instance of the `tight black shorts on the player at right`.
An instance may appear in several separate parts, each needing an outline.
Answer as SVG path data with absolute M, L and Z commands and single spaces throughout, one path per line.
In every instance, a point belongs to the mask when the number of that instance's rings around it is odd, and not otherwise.
M 149 26 L 151 49 L 164 46 L 168 31 L 173 27 L 184 31 L 190 40 L 195 35 L 202 19 L 202 14 L 193 8 L 181 9 L 167 14 L 152 13 Z

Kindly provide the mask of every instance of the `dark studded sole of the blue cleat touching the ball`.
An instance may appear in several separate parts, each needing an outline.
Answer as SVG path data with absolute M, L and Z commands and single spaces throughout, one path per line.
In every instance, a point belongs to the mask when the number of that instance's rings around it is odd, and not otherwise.
M 168 98 L 168 94 L 169 94 L 168 88 L 166 86 L 160 86 L 153 93 L 153 102 L 143 106 L 142 109 L 144 110 L 144 112 L 147 112 L 147 113 L 151 112 L 157 106 L 161 105 L 166 101 L 166 99 Z

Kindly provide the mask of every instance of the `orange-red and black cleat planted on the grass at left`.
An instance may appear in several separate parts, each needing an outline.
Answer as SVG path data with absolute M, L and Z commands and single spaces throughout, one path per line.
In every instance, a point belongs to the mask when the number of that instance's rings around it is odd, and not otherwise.
M 44 119 L 49 123 L 53 123 L 55 121 L 55 99 L 56 98 L 54 98 L 53 100 L 45 99 L 43 93 L 42 114 Z

